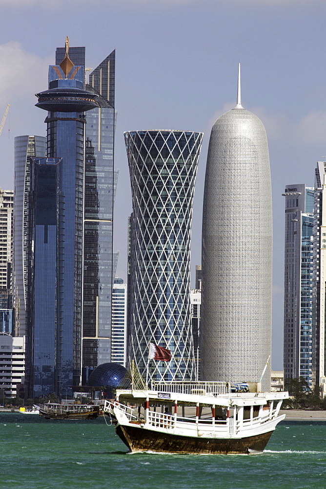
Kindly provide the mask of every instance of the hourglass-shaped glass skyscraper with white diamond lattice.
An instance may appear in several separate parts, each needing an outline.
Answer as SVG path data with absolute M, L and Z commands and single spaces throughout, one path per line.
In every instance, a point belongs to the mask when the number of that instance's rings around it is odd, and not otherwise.
M 124 133 L 131 215 L 131 344 L 146 377 L 149 343 L 171 350 L 170 362 L 149 363 L 151 380 L 194 379 L 190 316 L 192 202 L 203 133 Z

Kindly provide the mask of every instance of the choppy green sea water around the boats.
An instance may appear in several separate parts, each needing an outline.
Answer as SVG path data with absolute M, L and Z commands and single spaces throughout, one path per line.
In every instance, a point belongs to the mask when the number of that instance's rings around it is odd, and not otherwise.
M 326 488 L 326 422 L 285 421 L 258 455 L 129 454 L 103 418 L 0 413 L 0 489 Z

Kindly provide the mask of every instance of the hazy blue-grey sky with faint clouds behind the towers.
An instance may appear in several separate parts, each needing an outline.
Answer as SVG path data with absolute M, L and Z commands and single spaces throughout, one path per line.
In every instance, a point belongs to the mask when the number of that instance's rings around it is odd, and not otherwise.
M 201 263 L 204 175 L 211 127 L 242 105 L 263 121 L 273 189 L 272 367 L 283 369 L 286 184 L 313 186 L 326 157 L 325 0 L 0 0 L 0 187 L 13 189 L 14 137 L 45 135 L 35 93 L 47 89 L 55 49 L 86 46 L 95 68 L 116 49 L 114 248 L 126 279 L 131 192 L 123 132 L 204 132 L 192 224 L 192 287 Z M 259 230 L 257 230 L 259 232 Z

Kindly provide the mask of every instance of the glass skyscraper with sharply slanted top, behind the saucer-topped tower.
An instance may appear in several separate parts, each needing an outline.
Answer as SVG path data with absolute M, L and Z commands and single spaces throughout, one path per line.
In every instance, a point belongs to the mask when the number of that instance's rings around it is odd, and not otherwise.
M 86 89 L 97 95 L 98 107 L 86 113 L 83 383 L 91 369 L 111 362 L 112 354 L 112 285 L 117 265 L 112 249 L 113 205 L 118 178 L 114 171 L 115 51 L 90 73 Z

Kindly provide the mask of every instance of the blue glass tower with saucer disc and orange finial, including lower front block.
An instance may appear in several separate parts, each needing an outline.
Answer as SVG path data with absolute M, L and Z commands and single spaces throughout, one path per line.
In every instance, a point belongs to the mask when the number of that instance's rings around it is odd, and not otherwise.
M 84 112 L 97 107 L 84 66 L 69 58 L 49 67 L 47 158 L 33 158 L 34 264 L 31 384 L 34 396 L 63 393 L 81 380 Z

